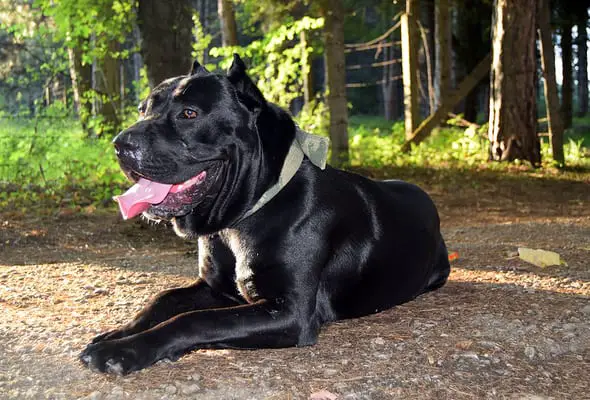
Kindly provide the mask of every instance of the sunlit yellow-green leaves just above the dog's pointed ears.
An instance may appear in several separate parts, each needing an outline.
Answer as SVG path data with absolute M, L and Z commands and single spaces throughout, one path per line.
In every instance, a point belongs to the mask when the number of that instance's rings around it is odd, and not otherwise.
M 314 51 L 309 44 L 304 48 L 299 35 L 303 31 L 318 30 L 323 25 L 323 18 L 304 17 L 270 31 L 246 47 L 215 47 L 210 54 L 223 57 L 220 66 L 224 69 L 231 65 L 233 53 L 249 59 L 252 67 L 248 73 L 265 97 L 288 108 L 295 98 L 301 96 L 303 74 L 308 68 L 302 66 L 301 61 Z

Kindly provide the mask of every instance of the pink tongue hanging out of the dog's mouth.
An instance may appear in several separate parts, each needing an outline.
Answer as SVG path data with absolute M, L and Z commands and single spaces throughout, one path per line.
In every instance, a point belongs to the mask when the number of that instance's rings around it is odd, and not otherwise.
M 114 199 L 119 203 L 123 219 L 129 219 L 150 208 L 150 204 L 164 201 L 171 188 L 172 185 L 141 178 L 129 190 L 120 196 L 115 196 Z

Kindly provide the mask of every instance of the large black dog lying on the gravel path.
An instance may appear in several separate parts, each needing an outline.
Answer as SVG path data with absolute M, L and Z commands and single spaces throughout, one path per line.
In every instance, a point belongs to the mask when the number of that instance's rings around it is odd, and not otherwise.
M 288 153 L 304 146 L 239 57 L 227 76 L 195 62 L 190 75 L 155 88 L 140 113 L 114 141 L 121 167 L 135 182 L 193 182 L 144 216 L 198 237 L 199 278 L 96 337 L 80 356 L 89 367 L 126 374 L 198 348 L 311 345 L 322 324 L 446 282 L 439 217 L 414 185 L 322 170 L 303 151 L 294 176 L 268 196 L 293 164 Z

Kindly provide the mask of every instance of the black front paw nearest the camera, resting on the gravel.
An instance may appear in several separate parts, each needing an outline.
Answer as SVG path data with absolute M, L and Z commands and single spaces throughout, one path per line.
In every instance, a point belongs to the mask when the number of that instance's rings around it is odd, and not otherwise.
M 80 361 L 94 371 L 126 375 L 157 360 L 149 348 L 137 341 L 117 339 L 89 344 L 80 354 Z

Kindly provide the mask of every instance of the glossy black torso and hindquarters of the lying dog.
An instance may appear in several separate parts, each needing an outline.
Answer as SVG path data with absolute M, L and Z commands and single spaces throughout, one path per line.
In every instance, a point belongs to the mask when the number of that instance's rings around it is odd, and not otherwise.
M 300 174 L 307 186 L 294 186 L 312 192 L 307 212 L 332 252 L 318 293 L 322 319 L 379 312 L 445 283 L 450 267 L 439 217 L 422 189 L 308 162 Z

